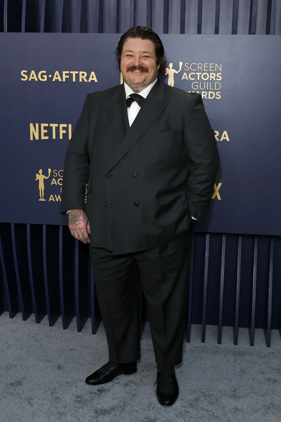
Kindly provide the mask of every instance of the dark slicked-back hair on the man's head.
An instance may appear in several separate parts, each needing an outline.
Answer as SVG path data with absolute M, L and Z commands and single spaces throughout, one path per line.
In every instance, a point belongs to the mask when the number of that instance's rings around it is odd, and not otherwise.
M 115 50 L 116 60 L 118 62 L 118 68 L 120 70 L 121 54 L 123 50 L 123 45 L 130 38 L 141 38 L 142 40 L 151 40 L 154 44 L 155 54 L 156 54 L 156 64 L 160 64 L 158 69 L 158 74 L 162 75 L 166 70 L 166 60 L 163 59 L 164 56 L 164 47 L 162 44 L 159 35 L 153 32 L 152 29 L 147 27 L 131 27 L 126 31 L 120 38 L 117 49 Z

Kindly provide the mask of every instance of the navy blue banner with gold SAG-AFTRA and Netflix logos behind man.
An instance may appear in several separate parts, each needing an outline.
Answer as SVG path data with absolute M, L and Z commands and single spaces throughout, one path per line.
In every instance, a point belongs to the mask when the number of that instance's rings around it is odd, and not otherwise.
M 67 225 L 64 154 L 88 92 L 121 83 L 118 34 L 0 34 L 0 222 Z M 161 35 L 161 79 L 199 92 L 220 157 L 194 230 L 281 235 L 281 37 Z M 85 189 L 86 200 L 87 187 Z

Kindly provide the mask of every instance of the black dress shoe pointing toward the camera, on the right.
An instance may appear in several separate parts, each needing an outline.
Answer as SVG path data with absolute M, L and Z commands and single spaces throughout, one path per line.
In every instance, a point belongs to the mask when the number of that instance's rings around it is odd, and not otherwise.
M 154 384 L 156 382 L 156 395 L 159 403 L 163 404 L 163 406 L 174 404 L 179 396 L 179 384 L 177 383 L 176 374 L 172 371 L 157 372 L 157 379 Z

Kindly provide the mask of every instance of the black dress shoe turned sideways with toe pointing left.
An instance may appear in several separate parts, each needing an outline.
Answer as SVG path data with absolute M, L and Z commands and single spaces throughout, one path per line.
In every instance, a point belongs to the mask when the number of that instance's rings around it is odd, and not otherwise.
M 130 373 L 135 372 L 136 362 L 112 363 L 109 361 L 101 368 L 93 372 L 91 375 L 87 376 L 85 382 L 91 385 L 104 384 L 106 382 L 112 381 L 115 376 L 118 376 L 121 373 L 129 375 Z

